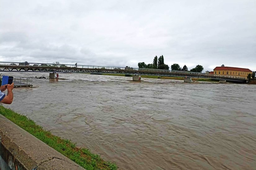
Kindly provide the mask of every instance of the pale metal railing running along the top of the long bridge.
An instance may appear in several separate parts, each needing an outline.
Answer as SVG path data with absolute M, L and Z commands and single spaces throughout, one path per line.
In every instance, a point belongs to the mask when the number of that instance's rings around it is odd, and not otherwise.
M 0 62 L 0 66 L 88 68 L 88 69 L 107 69 L 107 70 L 131 70 L 131 71 L 138 70 L 138 71 L 149 71 L 149 72 L 159 72 L 159 73 L 178 73 L 178 74 L 192 74 L 192 75 L 202 75 L 202 76 L 207 75 L 207 76 L 223 77 L 223 78 L 246 79 L 240 76 L 208 74 L 208 73 L 198 73 L 198 72 L 190 72 L 190 71 L 160 70 L 160 69 L 147 69 L 147 68 L 115 67 L 115 66 L 90 66 L 90 65 L 60 64 L 60 63 Z

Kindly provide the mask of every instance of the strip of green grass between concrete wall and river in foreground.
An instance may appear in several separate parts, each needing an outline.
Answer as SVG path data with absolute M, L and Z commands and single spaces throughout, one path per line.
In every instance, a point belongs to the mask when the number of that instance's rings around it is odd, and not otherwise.
M 91 153 L 87 148 L 78 148 L 76 143 L 51 134 L 51 132 L 44 130 L 42 126 L 37 125 L 24 115 L 15 113 L 3 106 L 0 106 L 0 114 L 87 170 L 117 169 L 115 163 L 106 162 L 99 155 Z

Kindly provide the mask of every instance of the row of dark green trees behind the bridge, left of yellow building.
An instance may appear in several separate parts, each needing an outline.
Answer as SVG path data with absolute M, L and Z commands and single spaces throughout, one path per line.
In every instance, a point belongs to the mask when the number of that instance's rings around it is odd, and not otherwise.
M 164 56 L 163 55 L 160 56 L 159 58 L 157 56 L 155 56 L 152 64 L 146 64 L 145 62 L 139 62 L 138 67 L 146 68 L 146 69 L 169 70 L 169 66 L 167 64 L 164 64 Z M 173 64 L 173 65 L 171 65 L 171 70 L 188 71 L 188 68 L 186 65 L 184 65 L 181 68 L 179 64 Z M 190 71 L 201 73 L 203 70 L 204 70 L 203 66 L 197 65 L 195 68 L 191 69 Z

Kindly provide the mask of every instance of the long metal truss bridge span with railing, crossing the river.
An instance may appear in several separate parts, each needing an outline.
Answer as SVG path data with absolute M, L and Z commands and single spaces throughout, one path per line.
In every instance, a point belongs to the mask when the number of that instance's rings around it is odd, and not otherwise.
M 190 71 L 142 69 L 130 67 L 87 66 L 70 64 L 48 64 L 28 62 L 0 62 L 0 71 L 11 72 L 59 72 L 59 73 L 94 73 L 94 74 L 132 74 L 132 75 L 157 75 L 169 77 L 191 77 L 234 82 L 246 82 L 245 78 L 227 75 L 206 74 Z

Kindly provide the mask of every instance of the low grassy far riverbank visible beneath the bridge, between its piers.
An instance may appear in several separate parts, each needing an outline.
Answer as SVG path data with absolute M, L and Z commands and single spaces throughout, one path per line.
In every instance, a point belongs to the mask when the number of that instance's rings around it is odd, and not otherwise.
M 104 74 L 104 73 L 101 75 L 125 76 L 125 74 Z M 132 75 L 131 75 L 131 77 L 132 77 Z M 155 75 L 141 75 L 141 78 L 184 80 L 184 77 L 166 77 L 166 76 L 155 76 Z M 198 78 L 198 79 L 192 78 L 192 81 L 219 82 L 219 80 L 204 79 L 204 78 Z

